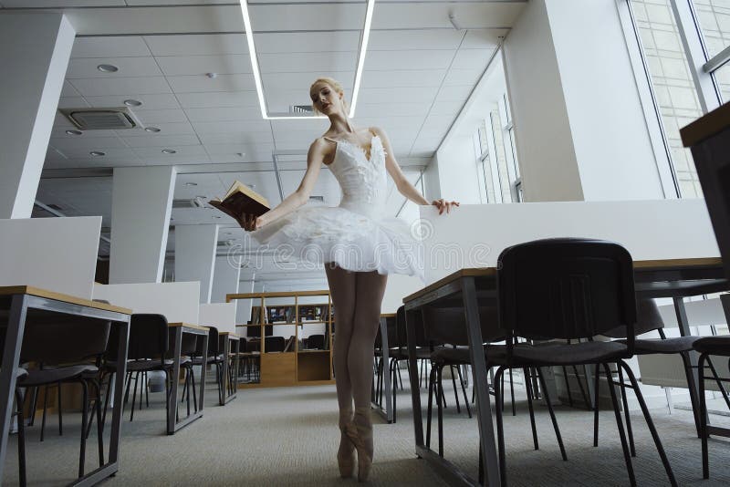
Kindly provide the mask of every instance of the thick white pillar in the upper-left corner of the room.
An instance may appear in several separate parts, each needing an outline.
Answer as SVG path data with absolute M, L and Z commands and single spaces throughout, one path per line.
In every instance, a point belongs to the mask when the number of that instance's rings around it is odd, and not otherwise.
M 30 218 L 76 31 L 61 14 L 0 13 L 0 218 Z

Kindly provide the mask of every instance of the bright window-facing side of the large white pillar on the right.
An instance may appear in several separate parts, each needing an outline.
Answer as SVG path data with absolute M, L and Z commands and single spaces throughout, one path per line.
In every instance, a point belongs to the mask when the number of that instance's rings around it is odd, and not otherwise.
M 663 198 L 616 0 L 547 14 L 586 201 Z

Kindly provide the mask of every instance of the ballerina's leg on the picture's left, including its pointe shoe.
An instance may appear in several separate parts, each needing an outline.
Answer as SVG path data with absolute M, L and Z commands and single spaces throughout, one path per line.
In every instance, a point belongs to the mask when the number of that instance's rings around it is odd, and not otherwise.
M 352 475 L 354 447 L 345 428 L 352 420 L 352 385 L 349 380 L 348 349 L 355 315 L 355 275 L 337 265 L 325 264 L 329 294 L 335 306 L 334 366 L 337 400 L 339 404 L 338 462 L 343 477 Z

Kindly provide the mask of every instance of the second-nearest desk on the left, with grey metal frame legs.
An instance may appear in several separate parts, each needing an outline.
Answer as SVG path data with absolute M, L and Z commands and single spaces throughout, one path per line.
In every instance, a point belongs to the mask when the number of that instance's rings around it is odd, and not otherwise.
M 175 431 L 189 425 L 194 420 L 203 417 L 203 395 L 205 393 L 205 364 L 208 363 L 208 328 L 205 326 L 191 325 L 189 323 L 168 323 L 168 327 L 175 330 L 172 344 L 172 390 L 170 399 L 174 402 L 167 409 L 167 434 L 173 435 Z M 200 374 L 200 393 L 198 394 L 198 408 L 193 414 L 183 420 L 177 419 L 177 387 L 180 382 L 180 356 L 183 349 L 183 334 L 199 335 L 203 337 L 203 366 Z M 123 376 L 117 376 L 123 377 Z

